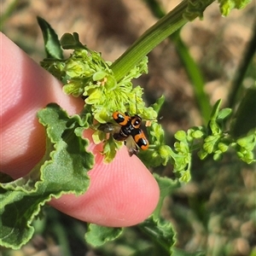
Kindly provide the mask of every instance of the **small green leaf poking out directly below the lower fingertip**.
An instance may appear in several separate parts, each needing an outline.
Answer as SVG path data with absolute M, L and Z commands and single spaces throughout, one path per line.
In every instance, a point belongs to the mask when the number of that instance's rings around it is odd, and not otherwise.
M 92 247 L 100 247 L 107 241 L 113 241 L 123 232 L 122 228 L 109 228 L 96 224 L 89 224 L 89 231 L 85 234 L 85 241 Z

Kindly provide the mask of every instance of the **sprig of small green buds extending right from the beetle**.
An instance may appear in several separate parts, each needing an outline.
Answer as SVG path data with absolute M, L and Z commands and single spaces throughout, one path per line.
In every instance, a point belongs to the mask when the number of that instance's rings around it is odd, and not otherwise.
M 191 127 L 186 131 L 177 131 L 174 137 L 174 149 L 165 143 L 165 131 L 159 124 L 154 123 L 148 127 L 148 138 L 152 146 L 147 152 L 140 152 L 139 156 L 146 166 L 166 166 L 170 161 L 173 172 L 177 174 L 180 182 L 189 182 L 192 152 L 199 149 L 201 160 L 212 155 L 213 160 L 220 160 L 229 148 L 234 148 L 238 157 L 250 164 L 253 163 L 253 150 L 256 143 L 255 126 L 248 135 L 236 139 L 226 131 L 225 120 L 230 116 L 231 109 L 220 110 L 221 100 L 216 102 L 212 109 L 211 119 L 207 126 Z M 255 108 L 256 109 L 256 108 Z M 254 110 L 253 110 L 254 113 Z M 251 123 L 251 128 L 253 125 Z

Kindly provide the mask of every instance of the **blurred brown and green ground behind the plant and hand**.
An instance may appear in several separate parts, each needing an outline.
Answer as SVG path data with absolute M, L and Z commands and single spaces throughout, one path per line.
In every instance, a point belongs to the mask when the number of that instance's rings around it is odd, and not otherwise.
M 1 31 L 39 62 L 45 56 L 37 24 L 40 16 L 60 38 L 65 32 L 78 32 L 82 43 L 102 52 L 106 61 L 114 61 L 158 20 L 148 2 L 2 0 Z M 157 3 L 167 13 L 180 1 L 158 0 Z M 144 88 L 148 105 L 159 96 L 166 96 L 160 123 L 170 145 L 177 130 L 204 123 L 201 114 L 204 107 L 195 96 L 195 84 L 189 79 L 188 62 L 183 62 L 180 41 L 200 70 L 199 79 L 204 81 L 208 102 L 213 105 L 221 98 L 222 108 L 230 107 L 232 83 L 240 72 L 255 28 L 255 2 L 246 9 L 232 10 L 226 18 L 220 15 L 218 4 L 213 3 L 203 20 L 196 19 L 183 26 L 179 40 L 168 38 L 148 55 L 148 74 L 134 84 Z M 241 84 L 242 90 L 255 80 L 255 63 L 254 55 Z M 172 166 L 157 172 L 172 177 Z M 186 252 L 204 250 L 210 256 L 253 256 L 256 255 L 255 193 L 255 165 L 241 163 L 234 152 L 218 162 L 199 161 L 195 155 L 192 181 L 166 198 L 162 216 L 174 224 L 177 247 Z M 34 224 L 37 231 L 32 241 L 20 250 L 2 249 L 0 254 L 158 255 L 152 250 L 154 244 L 136 228 L 126 229 L 117 241 L 96 249 L 84 242 L 86 224 L 50 207 L 45 207 L 44 212 L 44 218 Z

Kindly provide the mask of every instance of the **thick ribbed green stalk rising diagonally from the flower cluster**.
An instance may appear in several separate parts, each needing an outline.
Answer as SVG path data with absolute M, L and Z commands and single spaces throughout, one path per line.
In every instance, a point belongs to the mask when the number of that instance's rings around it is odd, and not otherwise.
M 202 11 L 213 1 L 214 0 L 186 0 L 179 3 L 176 8 L 172 9 L 169 14 L 156 22 L 154 26 L 151 26 L 123 55 L 113 62 L 111 68 L 115 79 L 117 79 L 117 81 L 122 79 L 131 68 L 136 66 L 145 55 L 148 55 L 156 45 L 160 44 L 173 32 L 177 31 L 178 28 L 188 22 L 188 20 L 183 17 L 183 14 L 187 11 L 189 4 L 190 9 L 193 9 L 190 19 L 195 19 L 198 15 L 201 15 Z

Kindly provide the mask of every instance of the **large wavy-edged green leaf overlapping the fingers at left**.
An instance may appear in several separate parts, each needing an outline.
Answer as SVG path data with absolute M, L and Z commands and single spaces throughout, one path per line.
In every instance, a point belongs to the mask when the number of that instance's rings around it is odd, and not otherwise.
M 81 195 L 89 187 L 87 172 L 94 157 L 86 151 L 89 142 L 78 125 L 86 127 L 85 120 L 69 117 L 56 104 L 39 111 L 38 117 L 49 136 L 43 160 L 26 182 L 0 183 L 0 245 L 4 247 L 17 249 L 31 239 L 32 220 L 52 197 Z

